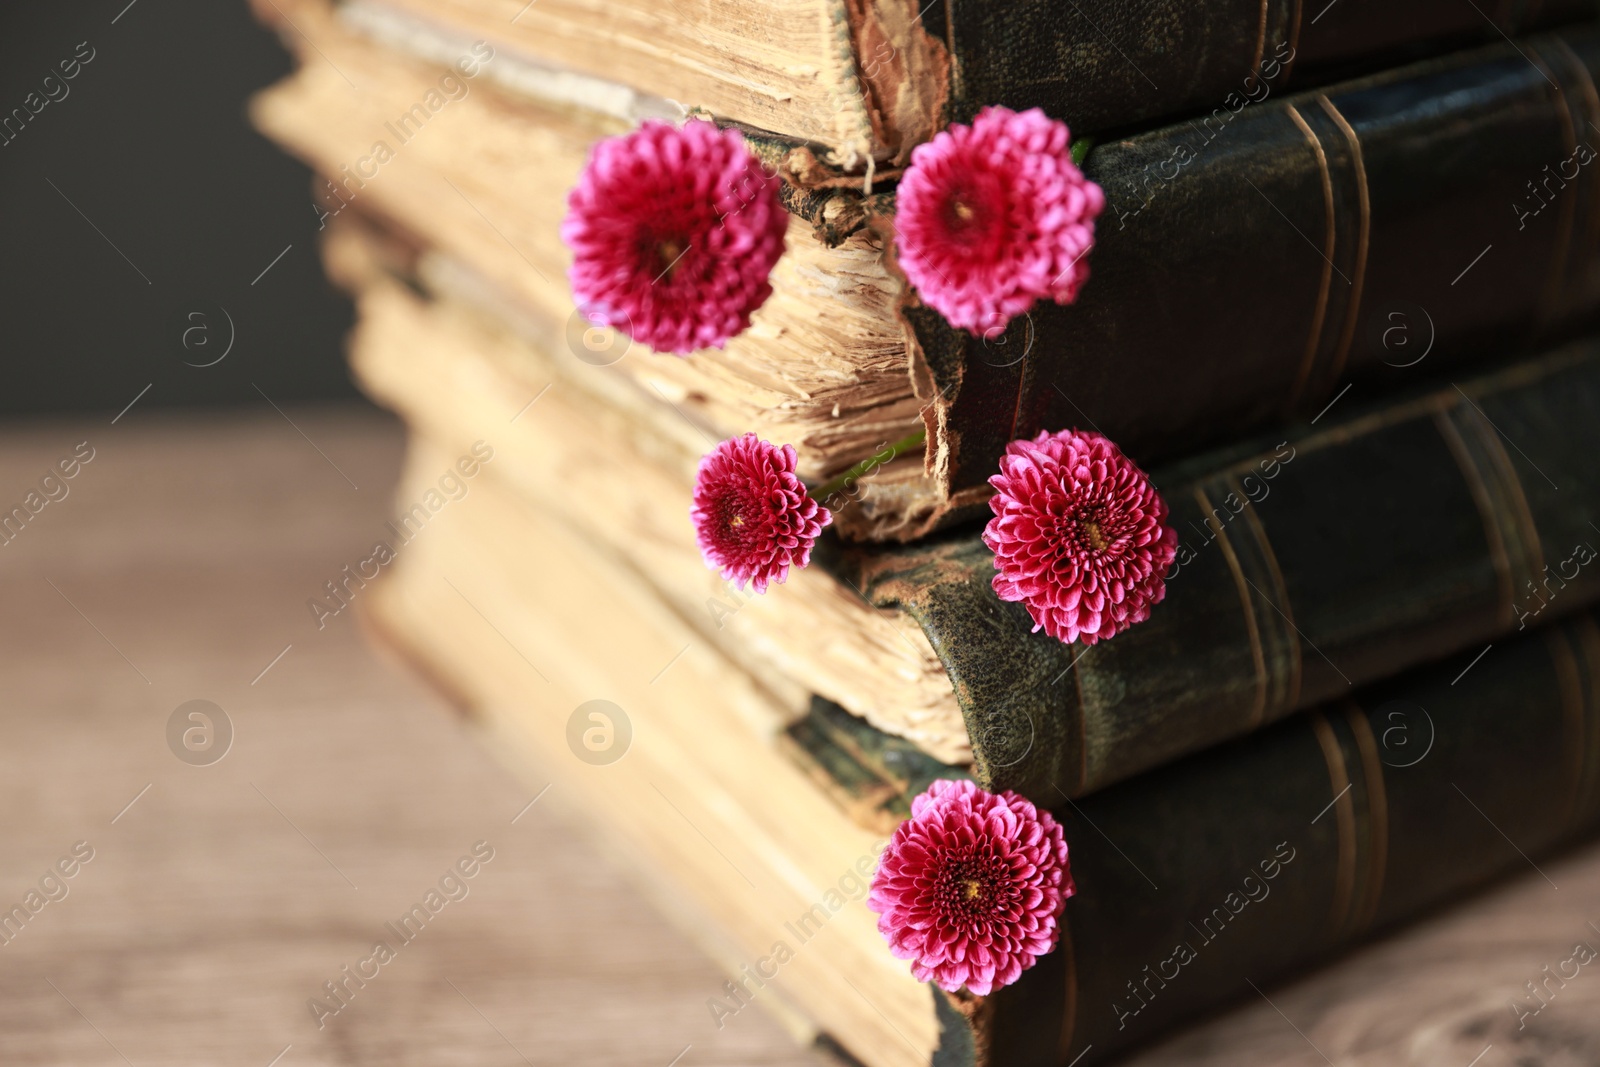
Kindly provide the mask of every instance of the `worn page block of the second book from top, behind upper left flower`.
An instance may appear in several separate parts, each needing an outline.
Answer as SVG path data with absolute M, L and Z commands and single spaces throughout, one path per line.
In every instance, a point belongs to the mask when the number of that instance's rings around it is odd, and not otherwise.
M 384 219 L 418 248 L 437 285 L 528 322 L 565 360 L 693 421 L 685 429 L 694 440 L 754 430 L 792 443 L 808 480 L 824 482 L 920 429 L 893 310 L 899 283 L 872 234 L 858 227 L 829 248 L 795 218 L 773 296 L 750 330 L 691 358 L 651 354 L 582 318 L 558 234 L 590 144 L 624 123 L 520 93 L 514 86 L 525 78 L 547 75 L 526 72 L 512 54 L 480 58 L 470 42 L 419 59 L 318 3 L 302 3 L 294 24 L 306 38 L 286 40 L 298 42 L 302 66 L 256 98 L 251 114 L 325 176 L 314 200 L 326 224 L 357 213 Z M 450 66 L 458 59 L 477 74 L 462 77 Z M 709 448 L 702 440 L 701 451 Z M 898 466 L 920 480 L 915 459 Z

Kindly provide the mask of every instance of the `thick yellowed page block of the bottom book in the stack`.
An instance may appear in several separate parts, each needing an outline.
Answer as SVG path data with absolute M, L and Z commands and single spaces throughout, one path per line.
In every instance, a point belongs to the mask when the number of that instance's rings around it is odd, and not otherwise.
M 461 454 L 413 437 L 397 510 Z M 693 1054 L 738 1025 L 730 1014 L 773 1011 L 802 1041 L 845 1045 L 872 1067 L 928 1064 L 933 997 L 861 904 L 883 837 L 778 749 L 789 699 L 594 537 L 526 506 L 510 525 L 485 515 L 502 459 L 496 448 L 450 515 L 398 547 L 355 601 L 363 622 L 454 697 L 530 797 L 550 787 L 539 809 L 597 827 L 618 867 L 722 965 L 731 981 L 683 1019 Z M 586 744 L 589 729 L 602 733 Z

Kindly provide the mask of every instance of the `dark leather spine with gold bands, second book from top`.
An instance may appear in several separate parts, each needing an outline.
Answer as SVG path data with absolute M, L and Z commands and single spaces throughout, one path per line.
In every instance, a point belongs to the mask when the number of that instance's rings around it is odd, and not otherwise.
M 936 522 L 981 514 L 1005 445 L 1040 429 L 1149 464 L 1594 318 L 1595 70 L 1582 27 L 1096 146 L 1107 206 L 1077 304 L 989 341 L 904 309 Z

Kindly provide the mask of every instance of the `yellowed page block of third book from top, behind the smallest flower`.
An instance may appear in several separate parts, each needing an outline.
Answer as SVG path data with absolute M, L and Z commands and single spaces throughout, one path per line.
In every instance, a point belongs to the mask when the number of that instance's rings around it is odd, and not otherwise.
M 792 573 L 765 597 L 706 568 L 688 522 L 706 448 L 693 427 L 632 389 L 610 389 L 619 382 L 603 370 L 552 357 L 514 323 L 424 301 L 382 266 L 403 270 L 406 250 L 349 222 L 330 229 L 325 254 L 330 274 L 357 293 L 350 365 L 378 403 L 458 454 L 486 440 L 498 450 L 494 478 L 626 560 L 702 640 L 784 693 L 795 715 L 803 680 L 947 763 L 971 760 L 949 677 L 901 613 L 869 606 L 821 568 Z M 515 522 L 512 512 L 504 525 Z

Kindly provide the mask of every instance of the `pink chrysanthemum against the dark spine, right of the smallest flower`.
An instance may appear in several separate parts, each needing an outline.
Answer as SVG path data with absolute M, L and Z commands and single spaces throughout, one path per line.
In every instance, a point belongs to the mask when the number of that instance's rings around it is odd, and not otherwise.
M 1027 605 L 1035 632 L 1093 645 L 1150 617 L 1178 533 L 1149 477 L 1109 438 L 1061 430 L 1011 442 L 989 485 L 994 587 Z

